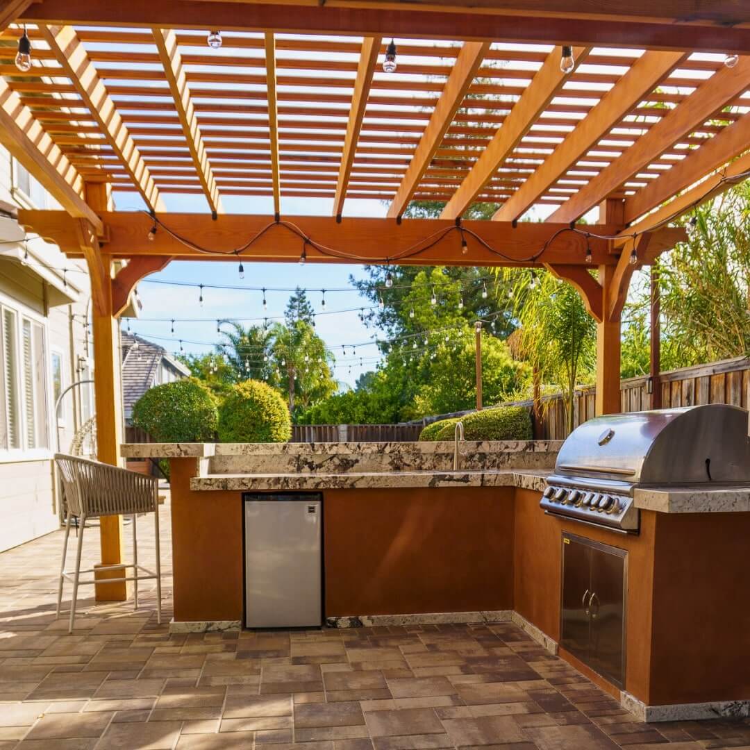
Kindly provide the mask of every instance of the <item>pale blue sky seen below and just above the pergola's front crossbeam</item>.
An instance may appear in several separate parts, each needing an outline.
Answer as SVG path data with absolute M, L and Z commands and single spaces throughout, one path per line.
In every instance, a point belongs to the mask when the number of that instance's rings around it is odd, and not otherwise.
M 206 206 L 202 196 L 166 195 L 168 211 L 205 212 Z M 118 210 L 127 211 L 142 208 L 137 196 L 133 193 L 115 195 Z M 347 215 L 385 216 L 386 206 L 376 200 L 347 200 Z M 243 198 L 226 196 L 223 208 L 229 213 L 273 214 L 270 199 Z M 282 199 L 282 215 L 330 215 L 331 199 Z M 163 271 L 152 274 L 148 280 L 138 286 L 139 297 L 143 303 L 139 320 L 130 320 L 130 330 L 144 338 L 160 344 L 168 351 L 178 351 L 179 341 L 188 353 L 208 353 L 211 347 L 199 344 L 188 344 L 185 340 L 213 342 L 217 340 L 216 323 L 224 318 L 260 318 L 284 315 L 284 308 L 289 299 L 288 293 L 268 292 L 266 302 L 268 310 L 263 311 L 263 294 L 241 289 L 216 290 L 206 288 L 203 293 L 203 305 L 199 305 L 199 290 L 190 287 L 154 284 L 154 281 L 184 281 L 191 284 L 227 284 L 242 287 L 302 287 L 303 289 L 334 289 L 350 287 L 349 276 L 365 278 L 360 266 L 347 264 L 316 265 L 308 263 L 299 266 L 297 263 L 245 263 L 245 279 L 239 279 L 236 263 L 217 263 L 215 261 L 175 261 Z M 323 311 L 321 294 L 309 294 L 311 303 L 317 313 Z M 360 346 L 372 341 L 375 329 L 368 329 L 359 320 L 359 308 L 368 306 L 369 302 L 351 289 L 347 292 L 326 293 L 326 314 L 317 316 L 316 330 L 329 347 L 341 344 L 356 344 L 356 356 L 347 354 L 346 358 L 336 352 L 338 367 L 335 369 L 336 380 L 344 388 L 354 383 L 365 371 L 374 369 L 375 360 L 380 356 L 374 344 Z M 333 311 L 353 310 L 347 313 L 334 314 Z M 170 320 L 175 319 L 175 335 L 171 335 Z M 180 318 L 200 319 L 199 322 L 180 322 Z M 160 320 L 149 320 L 160 319 Z M 250 321 L 243 323 L 249 325 Z M 123 324 L 125 325 L 125 324 Z M 362 365 L 360 365 L 362 358 Z

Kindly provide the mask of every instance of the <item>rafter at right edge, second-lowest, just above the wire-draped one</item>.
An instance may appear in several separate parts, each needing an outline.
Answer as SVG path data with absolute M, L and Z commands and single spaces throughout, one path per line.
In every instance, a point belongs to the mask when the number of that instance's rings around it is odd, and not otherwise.
M 750 114 L 742 115 L 739 120 L 724 127 L 721 133 L 708 139 L 700 148 L 688 151 L 682 161 L 677 162 L 661 177 L 649 182 L 646 187 L 642 187 L 629 198 L 625 198 L 625 223 L 633 223 L 638 217 L 669 200 L 679 190 L 690 187 L 748 148 Z

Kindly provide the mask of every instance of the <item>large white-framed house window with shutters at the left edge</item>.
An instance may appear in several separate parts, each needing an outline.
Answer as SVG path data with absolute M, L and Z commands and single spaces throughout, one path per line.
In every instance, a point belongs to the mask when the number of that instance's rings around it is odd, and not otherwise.
M 1 308 L 0 449 L 49 447 L 45 331 L 41 323 Z

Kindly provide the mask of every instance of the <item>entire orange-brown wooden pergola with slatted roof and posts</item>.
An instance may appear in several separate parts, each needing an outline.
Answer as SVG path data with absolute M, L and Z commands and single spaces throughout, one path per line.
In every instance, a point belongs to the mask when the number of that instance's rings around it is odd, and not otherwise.
M 88 264 L 110 463 L 117 317 L 172 259 L 544 267 L 595 317 L 597 411 L 619 411 L 631 275 L 684 238 L 671 220 L 750 169 L 744 0 L 6 0 L 0 23 L 0 142 L 61 207 L 19 218 Z M 24 25 L 34 63 L 19 71 Z M 115 210 L 112 190 L 144 210 Z M 205 211 L 168 211 L 174 194 Z M 226 213 L 230 196 L 272 210 Z M 287 216 L 292 197 L 332 213 Z M 360 198 L 387 217 L 342 215 Z M 446 207 L 401 220 L 415 199 Z M 475 202 L 499 205 L 492 220 L 461 220 Z M 102 562 L 120 550 L 103 523 Z

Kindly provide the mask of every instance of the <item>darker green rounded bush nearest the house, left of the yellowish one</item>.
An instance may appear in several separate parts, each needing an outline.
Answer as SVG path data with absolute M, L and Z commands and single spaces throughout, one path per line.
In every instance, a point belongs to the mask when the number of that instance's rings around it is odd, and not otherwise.
M 214 440 L 216 404 L 211 392 L 198 380 L 175 380 L 154 386 L 136 401 L 133 425 L 159 443 Z

